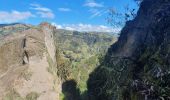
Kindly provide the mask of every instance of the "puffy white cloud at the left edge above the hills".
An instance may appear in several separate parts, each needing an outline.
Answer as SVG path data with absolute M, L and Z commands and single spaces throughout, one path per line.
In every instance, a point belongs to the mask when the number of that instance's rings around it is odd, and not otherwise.
M 19 12 L 19 11 L 0 11 L 0 23 L 13 23 L 19 22 L 31 17 L 35 17 L 31 12 Z

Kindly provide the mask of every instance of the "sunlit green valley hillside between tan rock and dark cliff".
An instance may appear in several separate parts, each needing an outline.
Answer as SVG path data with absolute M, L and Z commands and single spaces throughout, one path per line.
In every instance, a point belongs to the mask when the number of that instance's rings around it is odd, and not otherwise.
M 69 79 L 77 82 L 80 91 L 86 91 L 89 73 L 99 65 L 108 47 L 116 41 L 109 33 L 56 30 L 56 45 L 60 55 L 70 61 Z

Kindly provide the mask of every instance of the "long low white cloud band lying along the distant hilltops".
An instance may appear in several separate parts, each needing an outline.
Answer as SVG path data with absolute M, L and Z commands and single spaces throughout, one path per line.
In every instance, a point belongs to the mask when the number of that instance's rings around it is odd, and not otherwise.
M 105 25 L 91 25 L 91 24 L 64 24 L 58 25 L 52 23 L 58 29 L 66 29 L 66 30 L 76 30 L 76 31 L 89 31 L 89 32 L 120 32 L 121 28 L 112 28 Z

